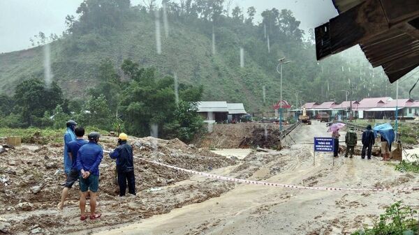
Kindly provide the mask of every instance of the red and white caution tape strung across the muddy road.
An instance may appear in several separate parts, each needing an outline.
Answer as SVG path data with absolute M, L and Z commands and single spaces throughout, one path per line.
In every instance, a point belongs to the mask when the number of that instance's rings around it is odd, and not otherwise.
M 212 179 L 218 179 L 221 181 L 232 181 L 237 183 L 248 183 L 248 184 L 255 184 L 255 185 L 266 185 L 266 186 L 273 186 L 273 187 L 281 187 L 281 188 L 295 188 L 299 190 L 330 190 L 330 191 L 358 191 L 358 192 L 366 192 L 366 191 L 373 191 L 373 192 L 395 192 L 395 191 L 412 191 L 412 190 L 419 190 L 419 187 L 405 187 L 405 188 L 333 188 L 333 187 L 308 187 L 308 186 L 301 186 L 301 185 L 288 185 L 283 183 L 270 183 L 264 181 L 249 181 L 247 179 L 236 179 L 226 176 L 217 176 L 215 174 L 208 174 L 205 172 L 196 172 L 191 169 L 184 169 L 180 167 L 174 167 L 171 165 L 167 165 L 161 162 L 156 162 L 154 160 L 148 160 L 145 158 L 139 158 L 145 162 L 150 162 L 156 165 L 161 165 L 163 167 L 168 167 L 171 169 L 177 169 L 182 172 L 187 172 L 191 174 L 197 174 L 200 176 L 205 176 Z

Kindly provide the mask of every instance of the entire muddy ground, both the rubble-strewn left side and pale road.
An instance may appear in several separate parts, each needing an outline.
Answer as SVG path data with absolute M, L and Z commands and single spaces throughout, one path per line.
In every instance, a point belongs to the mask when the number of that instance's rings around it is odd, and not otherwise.
M 417 174 L 396 172 L 381 158 L 339 156 L 333 166 L 332 153 L 316 153 L 313 166 L 309 143 L 314 136 L 330 136 L 326 130 L 318 122 L 300 126 L 287 137 L 285 149 L 241 149 L 237 158 L 231 158 L 234 149 L 216 152 L 221 156 L 177 139 L 135 138 L 132 142 L 135 156 L 238 179 L 339 188 L 419 185 Z M 104 137 L 101 144 L 105 149 L 115 147 L 115 137 Z M 22 146 L 0 155 L 0 229 L 8 234 L 351 234 L 362 224 L 372 225 L 385 206 L 399 200 L 418 209 L 418 192 L 245 185 L 186 174 L 139 158 L 135 158 L 138 195 L 118 197 L 113 184 L 115 163 L 104 158 L 98 195 L 103 217 L 80 221 L 78 185 L 70 191 L 64 211 L 56 209 L 64 182 L 59 172 L 61 155 L 61 144 Z M 41 190 L 35 193 L 34 186 Z

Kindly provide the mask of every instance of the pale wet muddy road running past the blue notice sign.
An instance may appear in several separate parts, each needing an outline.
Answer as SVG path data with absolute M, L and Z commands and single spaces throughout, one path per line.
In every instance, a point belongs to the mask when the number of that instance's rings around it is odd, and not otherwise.
M 301 126 L 292 138 L 309 143 L 315 135 L 329 136 L 325 130 L 324 123 L 314 122 Z M 320 153 L 313 166 L 312 149 L 310 144 L 292 144 L 279 152 L 251 153 L 240 164 L 247 165 L 249 179 L 268 182 L 340 188 L 419 185 L 417 174 L 396 172 L 381 158 L 339 156 L 332 166 L 332 154 Z M 235 169 L 220 169 L 219 174 L 229 175 Z M 191 180 L 202 179 L 193 176 Z M 237 184 L 220 197 L 97 234 L 351 234 L 363 224 L 372 225 L 385 206 L 399 200 L 418 209 L 418 196 L 418 192 L 336 192 Z

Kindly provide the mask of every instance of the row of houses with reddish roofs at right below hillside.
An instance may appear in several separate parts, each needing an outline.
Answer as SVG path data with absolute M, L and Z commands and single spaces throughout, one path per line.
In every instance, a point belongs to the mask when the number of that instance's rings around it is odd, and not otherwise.
M 348 116 L 351 108 L 358 119 L 395 119 L 395 110 L 398 109 L 399 119 L 415 119 L 419 114 L 419 100 L 399 99 L 391 97 L 364 98 L 360 101 L 344 101 L 340 104 L 335 102 L 305 103 L 302 105 L 307 114 L 312 118 L 319 112 L 327 112 L 331 117 L 338 115 Z M 298 112 L 298 110 L 293 110 Z

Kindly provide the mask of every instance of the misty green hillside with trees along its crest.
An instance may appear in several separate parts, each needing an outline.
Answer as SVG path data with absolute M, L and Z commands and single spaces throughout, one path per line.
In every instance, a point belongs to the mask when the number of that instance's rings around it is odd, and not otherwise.
M 222 5 L 217 4 L 223 1 L 189 1 L 189 7 L 168 1 L 170 33 L 166 38 L 160 19 L 161 54 L 158 54 L 154 11 L 141 6 L 127 8 L 112 0 L 105 1 L 108 8 L 94 8 L 96 2 L 87 1 L 88 6 L 80 6 L 85 9 L 79 12 L 79 19 L 71 22 L 64 36 L 50 43 L 53 79 L 69 99 L 84 97 L 87 89 L 98 83 L 98 66 L 105 58 L 112 60 L 122 79 L 126 79 L 122 62 L 132 59 L 142 67 L 157 68 L 162 75 L 177 73 L 181 83 L 202 84 L 203 100 L 242 102 L 248 112 L 267 109 L 263 108 L 263 86 L 266 86 L 265 105 L 279 100 L 276 66 L 277 59 L 284 56 L 293 61 L 284 66 L 283 75 L 284 100 L 292 104 L 297 91 L 302 91 L 299 97 L 306 101 L 344 100 L 341 89 L 348 89 L 348 79 L 353 84 L 353 98 L 368 93 L 382 96 L 385 89 L 382 71 L 365 79 L 372 74 L 372 68 L 362 54 L 356 55 L 362 63 L 351 63 L 342 56 L 317 63 L 314 45 L 304 39 L 298 29 L 300 22 L 289 10 L 265 10 L 263 22 L 255 25 L 251 16 L 237 13 L 237 9 L 232 17 L 222 15 Z M 162 10 L 159 12 L 162 15 Z M 263 24 L 267 25 L 270 52 Z M 213 26 L 215 54 L 212 54 Z M 240 68 L 240 47 L 244 48 L 244 68 Z M 43 77 L 43 56 L 43 46 L 0 54 L 0 92 L 12 95 L 22 80 Z M 351 72 L 342 72 L 341 66 L 351 67 Z M 363 81 L 358 75 L 360 66 L 365 71 Z M 367 84 L 367 89 L 362 84 Z M 369 91 L 372 84 L 374 89 Z M 388 95 L 394 96 L 388 86 Z

